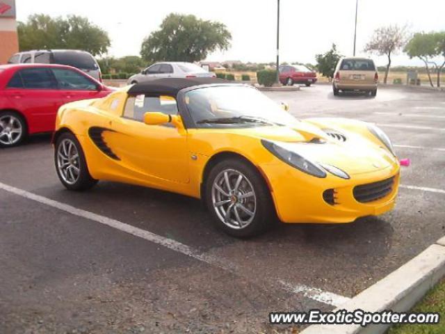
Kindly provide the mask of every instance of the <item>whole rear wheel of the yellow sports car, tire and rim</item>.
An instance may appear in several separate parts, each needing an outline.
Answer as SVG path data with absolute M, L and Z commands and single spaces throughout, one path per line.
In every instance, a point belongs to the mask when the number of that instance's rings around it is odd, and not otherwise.
M 54 163 L 60 182 L 69 190 L 86 190 L 97 183 L 88 171 L 79 141 L 70 132 L 61 134 L 57 139 Z

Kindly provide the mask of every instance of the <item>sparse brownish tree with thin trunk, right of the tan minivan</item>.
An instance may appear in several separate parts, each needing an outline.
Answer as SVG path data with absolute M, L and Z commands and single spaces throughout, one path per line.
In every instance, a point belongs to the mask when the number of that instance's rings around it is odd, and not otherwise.
M 389 67 L 391 67 L 391 55 L 405 45 L 406 29 L 405 26 L 382 26 L 375 29 L 371 40 L 366 44 L 364 51 L 375 52 L 380 56 L 387 56 L 388 63 L 385 71 L 383 83 L 387 83 Z

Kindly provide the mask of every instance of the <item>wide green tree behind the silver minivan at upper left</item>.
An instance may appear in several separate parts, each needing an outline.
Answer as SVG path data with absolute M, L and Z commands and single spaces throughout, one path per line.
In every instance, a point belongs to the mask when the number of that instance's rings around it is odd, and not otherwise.
M 50 17 L 30 15 L 17 24 L 19 49 L 81 49 L 93 56 L 106 53 L 110 47 L 108 33 L 92 24 L 86 17 L 70 15 Z

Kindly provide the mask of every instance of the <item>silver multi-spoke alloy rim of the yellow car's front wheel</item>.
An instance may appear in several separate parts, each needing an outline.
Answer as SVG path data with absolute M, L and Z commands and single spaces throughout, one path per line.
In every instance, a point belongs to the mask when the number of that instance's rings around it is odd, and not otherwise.
M 250 225 L 257 212 L 252 183 L 238 170 L 225 169 L 215 177 L 211 200 L 220 221 L 234 230 Z

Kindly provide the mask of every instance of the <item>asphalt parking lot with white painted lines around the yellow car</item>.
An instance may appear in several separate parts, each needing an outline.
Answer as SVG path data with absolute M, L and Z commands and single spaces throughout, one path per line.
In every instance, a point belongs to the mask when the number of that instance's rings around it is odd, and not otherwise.
M 384 129 L 412 161 L 394 211 L 234 239 L 192 198 L 111 182 L 65 190 L 50 136 L 34 136 L 0 150 L 0 333 L 286 332 L 269 312 L 331 310 L 445 234 L 444 93 L 266 94 L 300 118 Z

